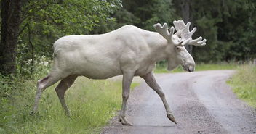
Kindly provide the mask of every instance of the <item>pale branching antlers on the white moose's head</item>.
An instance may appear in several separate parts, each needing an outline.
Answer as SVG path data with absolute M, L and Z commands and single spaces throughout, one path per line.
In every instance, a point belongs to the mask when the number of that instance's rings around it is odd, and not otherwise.
M 156 31 L 162 35 L 164 38 L 167 39 L 167 41 L 173 43 L 175 46 L 185 46 L 185 45 L 194 45 L 194 46 L 204 46 L 206 45 L 206 39 L 201 41 L 201 36 L 196 39 L 192 39 L 193 33 L 196 32 L 196 28 L 193 28 L 193 30 L 189 31 L 189 26 L 191 25 L 191 22 L 188 22 L 186 25 L 183 20 L 174 21 L 173 24 L 174 27 L 170 28 L 170 33 L 168 32 L 167 24 L 164 23 L 163 26 L 161 24 L 155 24 L 153 25 L 154 28 L 156 28 Z M 177 32 L 174 34 L 175 29 Z

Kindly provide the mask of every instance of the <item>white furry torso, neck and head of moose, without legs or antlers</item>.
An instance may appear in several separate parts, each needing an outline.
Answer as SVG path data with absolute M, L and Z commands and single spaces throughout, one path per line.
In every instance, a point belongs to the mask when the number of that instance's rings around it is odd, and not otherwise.
M 68 35 L 58 39 L 54 43 L 53 70 L 65 76 L 93 79 L 111 78 L 124 71 L 143 76 L 162 59 L 168 59 L 172 69 L 187 60 L 193 62 L 191 56 L 181 60 L 189 54 L 183 47 L 180 49 L 175 51 L 175 46 L 159 33 L 125 25 L 102 35 Z

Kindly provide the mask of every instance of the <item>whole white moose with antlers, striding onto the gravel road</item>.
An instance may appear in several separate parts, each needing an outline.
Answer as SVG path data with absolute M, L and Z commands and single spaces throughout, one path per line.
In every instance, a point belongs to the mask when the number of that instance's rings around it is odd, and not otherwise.
M 173 70 L 179 64 L 188 72 L 193 72 L 195 62 L 186 51 L 185 45 L 204 46 L 206 39 L 199 37 L 192 40 L 196 31 L 189 31 L 190 22 L 183 20 L 173 22 L 175 28 L 168 30 L 167 24 L 153 25 L 156 32 L 143 30 L 133 25 L 125 25 L 117 30 L 102 35 L 68 35 L 54 43 L 54 63 L 47 77 L 37 83 L 35 104 L 32 112 L 38 108 L 41 93 L 50 85 L 60 83 L 55 88 L 60 103 L 66 114 L 70 114 L 65 104 L 65 91 L 73 84 L 79 75 L 92 79 L 107 79 L 123 75 L 122 106 L 119 122 L 122 125 L 132 125 L 125 118 L 130 85 L 134 76 L 140 76 L 161 97 L 167 111 L 167 117 L 172 122 L 169 104 L 153 76 L 153 68 L 157 61 L 166 59 L 167 69 Z M 177 32 L 174 34 L 175 29 Z M 169 32 L 170 31 L 170 32 Z

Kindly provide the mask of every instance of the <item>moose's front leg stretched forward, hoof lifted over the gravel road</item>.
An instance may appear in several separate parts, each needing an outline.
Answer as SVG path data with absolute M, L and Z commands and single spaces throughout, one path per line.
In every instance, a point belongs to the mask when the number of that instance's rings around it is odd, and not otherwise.
M 153 72 L 150 72 L 147 75 L 142 76 L 141 78 L 143 78 L 145 82 L 148 84 L 148 86 L 150 86 L 160 96 L 161 101 L 163 101 L 164 107 L 167 110 L 167 117 L 169 118 L 169 120 L 177 124 L 177 122 L 175 121 L 175 117 L 173 117 L 172 115 L 171 109 L 169 109 L 169 104 L 167 103 L 167 99 L 165 99 L 164 92 L 161 90 L 159 84 L 156 83 L 156 79 L 153 76 Z

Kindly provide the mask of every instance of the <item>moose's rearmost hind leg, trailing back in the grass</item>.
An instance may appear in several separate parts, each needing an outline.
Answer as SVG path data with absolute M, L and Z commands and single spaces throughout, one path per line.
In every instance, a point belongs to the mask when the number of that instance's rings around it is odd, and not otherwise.
M 33 106 L 32 113 L 37 112 L 38 105 L 39 105 L 39 99 L 41 98 L 41 93 L 49 86 L 57 83 L 58 80 L 60 80 L 60 79 L 54 78 L 54 77 L 52 77 L 52 75 L 47 75 L 47 77 L 42 78 L 41 80 L 37 81 L 35 104 Z

